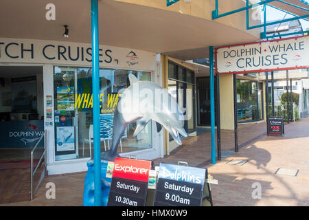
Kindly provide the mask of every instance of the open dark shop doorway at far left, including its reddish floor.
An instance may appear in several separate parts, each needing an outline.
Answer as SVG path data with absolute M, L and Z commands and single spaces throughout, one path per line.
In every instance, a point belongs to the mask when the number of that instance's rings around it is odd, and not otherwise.
M 44 133 L 43 100 L 42 66 L 0 66 L 0 203 L 30 199 L 30 157 Z M 34 166 L 43 151 L 44 138 L 34 151 Z

